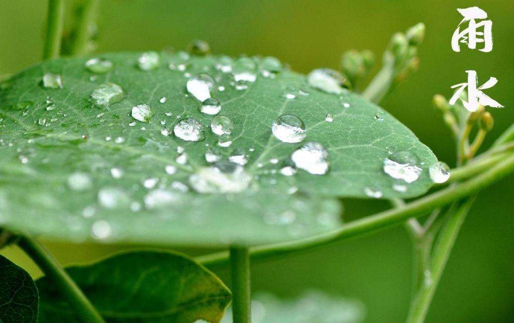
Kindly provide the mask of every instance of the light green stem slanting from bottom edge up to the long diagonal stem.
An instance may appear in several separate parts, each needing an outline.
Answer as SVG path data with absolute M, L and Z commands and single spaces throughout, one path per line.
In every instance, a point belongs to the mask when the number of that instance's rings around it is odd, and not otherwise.
M 419 286 L 418 292 L 411 303 L 411 309 L 407 317 L 408 323 L 422 323 L 425 320 L 437 284 L 443 274 L 457 234 L 461 229 L 473 200 L 473 197 L 467 199 L 467 201 L 457 208 L 456 212 L 448 215 L 447 222 L 442 227 L 432 252 L 428 279 L 425 279 Z

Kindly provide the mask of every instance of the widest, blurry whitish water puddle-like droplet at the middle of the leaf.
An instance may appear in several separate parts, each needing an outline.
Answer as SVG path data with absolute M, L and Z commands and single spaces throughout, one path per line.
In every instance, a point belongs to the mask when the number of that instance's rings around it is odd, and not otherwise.
M 211 167 L 198 169 L 189 177 L 198 193 L 239 193 L 250 184 L 251 176 L 241 165 L 218 162 Z

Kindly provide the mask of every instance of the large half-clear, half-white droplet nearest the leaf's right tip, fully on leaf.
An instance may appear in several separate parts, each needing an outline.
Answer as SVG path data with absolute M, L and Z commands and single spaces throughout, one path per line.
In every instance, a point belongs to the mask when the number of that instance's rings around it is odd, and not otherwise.
M 410 151 L 399 151 L 384 159 L 383 170 L 392 178 L 412 183 L 421 173 L 421 168 L 416 165 L 417 161 L 417 157 Z

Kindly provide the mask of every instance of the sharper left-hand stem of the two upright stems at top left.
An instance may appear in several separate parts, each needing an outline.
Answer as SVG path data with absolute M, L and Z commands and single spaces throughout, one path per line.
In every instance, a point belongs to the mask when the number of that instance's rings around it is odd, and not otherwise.
M 59 57 L 63 31 L 63 1 L 48 0 L 48 17 L 46 20 L 46 39 L 43 49 L 43 61 Z

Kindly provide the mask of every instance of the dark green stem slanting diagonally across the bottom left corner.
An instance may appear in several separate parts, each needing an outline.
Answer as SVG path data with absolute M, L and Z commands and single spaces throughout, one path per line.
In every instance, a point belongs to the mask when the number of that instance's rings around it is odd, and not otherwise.
M 105 322 L 77 284 L 42 244 L 28 236 L 21 236 L 17 243 L 56 285 L 57 290 L 75 308 L 82 321 L 87 323 Z

